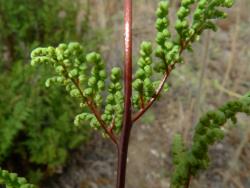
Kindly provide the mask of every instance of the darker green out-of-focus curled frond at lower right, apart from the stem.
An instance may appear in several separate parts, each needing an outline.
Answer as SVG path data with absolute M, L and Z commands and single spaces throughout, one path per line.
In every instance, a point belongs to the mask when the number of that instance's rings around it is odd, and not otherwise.
M 191 175 L 196 175 L 199 170 L 208 167 L 209 146 L 224 138 L 221 126 L 229 119 L 236 121 L 237 113 L 250 115 L 249 93 L 239 100 L 227 102 L 217 110 L 204 114 L 196 125 L 192 145 L 188 150 L 183 147 L 181 136 L 175 136 L 172 145 L 175 170 L 171 187 L 184 187 Z

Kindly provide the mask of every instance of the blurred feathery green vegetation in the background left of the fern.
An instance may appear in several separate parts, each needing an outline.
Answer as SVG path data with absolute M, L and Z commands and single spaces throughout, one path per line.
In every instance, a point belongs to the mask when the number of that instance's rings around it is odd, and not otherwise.
M 33 183 L 62 167 L 90 131 L 73 126 L 77 102 L 63 89 L 45 88 L 51 72 L 44 66 L 38 74 L 30 52 L 70 41 L 98 50 L 102 36 L 88 16 L 78 0 L 0 0 L 0 166 Z

